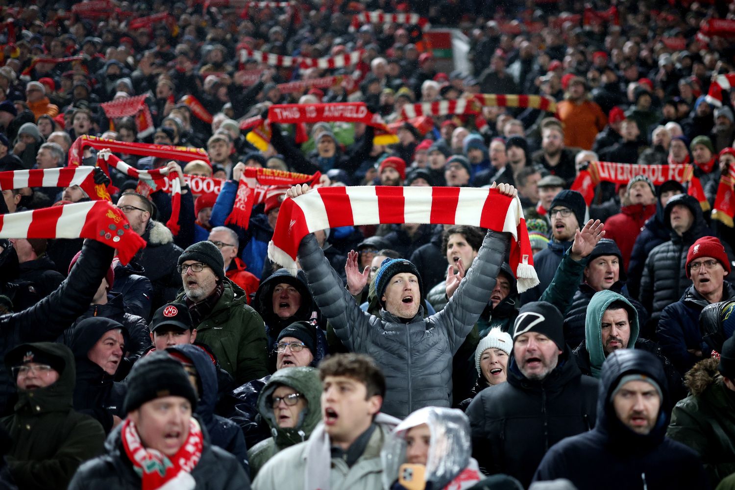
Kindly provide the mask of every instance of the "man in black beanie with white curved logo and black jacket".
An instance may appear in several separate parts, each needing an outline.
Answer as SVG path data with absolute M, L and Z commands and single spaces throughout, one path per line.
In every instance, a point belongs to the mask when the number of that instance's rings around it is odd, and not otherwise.
M 480 468 L 517 478 L 523 488 L 549 447 L 595 425 L 598 381 L 581 374 L 563 322 L 551 303 L 523 306 L 511 331 L 507 383 L 484 389 L 467 407 Z

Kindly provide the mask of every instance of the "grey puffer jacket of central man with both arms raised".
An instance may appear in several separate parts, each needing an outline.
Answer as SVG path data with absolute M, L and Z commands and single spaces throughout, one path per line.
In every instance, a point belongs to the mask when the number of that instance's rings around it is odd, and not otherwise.
M 425 406 L 452 405 L 452 358 L 490 300 L 508 245 L 508 234 L 488 231 L 447 306 L 426 318 L 420 306 L 408 323 L 384 309 L 382 319 L 362 311 L 313 235 L 301 240 L 298 260 L 334 333 L 349 350 L 372 356 L 382 368 L 387 388 L 382 411 L 405 418 Z

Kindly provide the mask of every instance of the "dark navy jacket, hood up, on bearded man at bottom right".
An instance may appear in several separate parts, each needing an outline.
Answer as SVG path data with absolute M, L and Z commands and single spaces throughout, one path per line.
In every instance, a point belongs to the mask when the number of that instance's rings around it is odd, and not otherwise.
M 634 433 L 617 418 L 611 397 L 628 374 L 653 378 L 663 400 L 655 427 Z M 699 455 L 664 437 L 670 401 L 666 375 L 653 354 L 622 349 L 603 364 L 594 430 L 564 439 L 546 453 L 534 481 L 567 478 L 577 489 L 708 489 Z

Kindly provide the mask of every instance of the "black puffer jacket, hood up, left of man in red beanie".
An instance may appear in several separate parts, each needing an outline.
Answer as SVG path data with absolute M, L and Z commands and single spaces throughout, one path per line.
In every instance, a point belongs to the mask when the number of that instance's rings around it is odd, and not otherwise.
M 671 229 L 671 209 L 677 204 L 689 208 L 694 223 L 680 237 Z M 650 321 L 658 323 L 661 311 L 684 295 L 692 280 L 686 277 L 686 253 L 701 237 L 712 234 L 706 226 L 698 201 L 690 195 L 675 195 L 664 209 L 664 226 L 670 230 L 671 240 L 654 248 L 648 254 L 641 277 L 640 301 L 650 311 Z

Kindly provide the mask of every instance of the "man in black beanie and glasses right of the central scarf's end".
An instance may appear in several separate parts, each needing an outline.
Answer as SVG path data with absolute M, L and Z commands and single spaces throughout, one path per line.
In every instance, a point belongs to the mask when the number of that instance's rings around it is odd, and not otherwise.
M 520 295 L 521 303 L 539 300 L 551 284 L 556 268 L 562 262 L 562 256 L 572 246 L 576 231 L 586 223 L 584 219 L 586 211 L 587 203 L 576 190 L 562 190 L 556 198 L 553 198 L 547 215 L 551 222 L 551 240 L 548 248 L 534 256 L 534 268 L 539 276 L 539 285 Z

